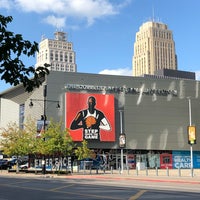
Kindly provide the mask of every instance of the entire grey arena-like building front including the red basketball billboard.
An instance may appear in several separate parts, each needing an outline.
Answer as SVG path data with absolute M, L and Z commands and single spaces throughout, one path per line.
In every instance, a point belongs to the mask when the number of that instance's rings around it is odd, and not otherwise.
M 44 85 L 47 121 L 62 120 L 74 142 L 86 139 L 89 148 L 114 158 L 115 168 L 120 163 L 122 134 L 126 164 L 189 168 L 191 113 L 191 125 L 196 127 L 194 167 L 200 168 L 199 81 L 51 72 Z M 43 89 L 26 93 L 23 86 L 17 86 L 2 92 L 0 126 L 30 118 L 36 126 L 44 114 Z

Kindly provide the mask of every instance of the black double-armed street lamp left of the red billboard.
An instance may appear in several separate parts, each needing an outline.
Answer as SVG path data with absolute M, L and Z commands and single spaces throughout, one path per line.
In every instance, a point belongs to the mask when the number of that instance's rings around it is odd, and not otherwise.
M 33 107 L 33 101 L 42 101 L 43 102 L 43 115 L 41 115 L 41 120 L 43 121 L 43 131 L 45 133 L 46 130 L 46 120 L 47 120 L 47 116 L 46 116 L 46 103 L 47 102 L 55 102 L 57 103 L 57 108 L 60 108 L 60 104 L 59 101 L 53 101 L 53 100 L 47 100 L 47 85 L 45 84 L 43 86 L 43 99 L 30 99 L 30 103 L 29 106 Z M 45 137 L 43 138 L 43 140 L 45 141 Z M 46 174 L 46 162 L 45 162 L 45 155 L 43 157 L 43 161 L 42 161 L 42 174 Z

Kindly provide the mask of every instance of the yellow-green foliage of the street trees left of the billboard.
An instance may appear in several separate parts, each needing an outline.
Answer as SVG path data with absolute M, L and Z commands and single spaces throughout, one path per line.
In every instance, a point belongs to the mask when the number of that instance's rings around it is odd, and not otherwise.
M 7 155 L 71 155 L 74 143 L 61 123 L 51 122 L 41 137 L 36 137 L 36 125 L 30 121 L 20 129 L 15 123 L 1 130 L 0 147 Z M 44 140 L 45 138 L 45 140 Z

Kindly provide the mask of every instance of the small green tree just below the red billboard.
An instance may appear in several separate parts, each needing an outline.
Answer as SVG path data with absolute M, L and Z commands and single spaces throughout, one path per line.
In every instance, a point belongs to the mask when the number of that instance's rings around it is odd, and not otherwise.
M 92 153 L 93 151 L 88 148 L 88 143 L 86 140 L 83 140 L 82 146 L 77 147 L 75 150 L 75 155 L 78 157 L 78 160 L 90 158 Z

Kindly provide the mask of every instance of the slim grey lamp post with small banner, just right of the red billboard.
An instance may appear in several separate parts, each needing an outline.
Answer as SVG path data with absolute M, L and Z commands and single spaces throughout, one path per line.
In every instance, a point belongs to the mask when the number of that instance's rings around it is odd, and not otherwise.
M 121 173 L 123 173 L 124 170 L 124 153 L 123 153 L 123 149 L 126 146 L 126 136 L 125 133 L 123 133 L 123 123 L 122 123 L 122 110 L 119 110 L 119 114 L 120 114 L 120 136 L 119 136 L 119 147 L 121 148 Z

